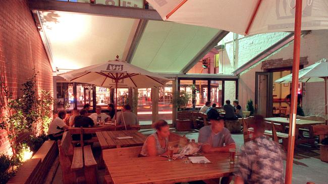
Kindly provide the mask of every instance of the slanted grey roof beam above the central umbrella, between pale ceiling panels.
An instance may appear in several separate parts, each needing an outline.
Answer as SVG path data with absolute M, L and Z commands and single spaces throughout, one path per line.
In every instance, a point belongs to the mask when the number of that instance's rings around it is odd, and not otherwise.
M 134 34 L 134 37 L 133 37 L 129 52 L 128 52 L 127 57 L 125 59 L 128 63 L 131 63 L 131 61 L 132 61 L 133 55 L 136 52 L 138 44 L 139 44 L 139 42 L 141 40 L 141 37 L 143 35 L 143 32 L 146 29 L 147 23 L 148 23 L 148 20 L 141 19 L 139 21 L 136 33 Z

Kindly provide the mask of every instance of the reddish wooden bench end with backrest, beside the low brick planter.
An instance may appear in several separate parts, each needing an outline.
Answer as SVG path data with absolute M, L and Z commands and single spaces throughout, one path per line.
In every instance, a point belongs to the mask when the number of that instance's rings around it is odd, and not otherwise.
M 62 140 L 58 140 L 59 159 L 63 172 L 64 183 L 76 183 L 77 170 L 83 169 L 82 147 L 73 151 L 71 134 L 65 132 Z M 76 151 L 76 152 L 75 152 Z M 71 158 L 73 156 L 73 159 Z

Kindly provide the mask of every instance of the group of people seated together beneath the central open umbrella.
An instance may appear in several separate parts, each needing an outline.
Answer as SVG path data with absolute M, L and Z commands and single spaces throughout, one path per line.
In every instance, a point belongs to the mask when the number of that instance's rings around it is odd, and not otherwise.
M 59 111 L 58 116 L 49 124 L 48 136 L 50 140 L 61 140 L 64 131 L 68 130 L 70 127 L 94 127 L 99 124 L 104 124 L 105 122 L 112 123 L 116 119 L 113 104 L 108 104 L 108 114 L 101 113 L 101 107 L 96 106 L 95 113 L 90 115 L 88 113 L 89 108 L 90 105 L 86 104 L 80 111 L 73 110 L 73 113 L 69 117 L 66 116 L 67 113 L 65 110 Z M 68 123 L 65 123 L 65 121 Z M 122 113 L 118 113 L 116 125 L 139 125 L 138 117 L 131 111 L 130 105 L 125 105 L 122 109 Z M 90 138 L 91 137 L 88 136 L 85 137 L 85 139 Z

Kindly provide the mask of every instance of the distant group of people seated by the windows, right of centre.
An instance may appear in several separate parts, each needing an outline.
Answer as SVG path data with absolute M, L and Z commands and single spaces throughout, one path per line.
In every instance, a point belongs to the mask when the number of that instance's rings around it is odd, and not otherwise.
M 216 109 L 216 104 L 210 105 L 210 102 L 206 102 L 203 107 L 200 108 L 199 113 L 207 114 L 207 116 L 211 116 L 212 114 L 220 114 Z M 224 114 L 222 116 L 225 117 L 226 120 L 237 120 L 238 118 L 243 117 L 243 111 L 241 106 L 239 105 L 238 100 L 234 100 L 233 105 L 231 105 L 230 100 L 226 100 L 226 104 L 223 106 Z

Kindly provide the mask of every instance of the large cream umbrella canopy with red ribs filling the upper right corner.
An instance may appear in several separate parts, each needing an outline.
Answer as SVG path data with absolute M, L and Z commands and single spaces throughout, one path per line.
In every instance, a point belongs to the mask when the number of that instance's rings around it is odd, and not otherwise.
M 147 0 L 165 21 L 243 35 L 294 31 L 295 0 Z M 328 29 L 328 1 L 304 0 L 302 30 Z

